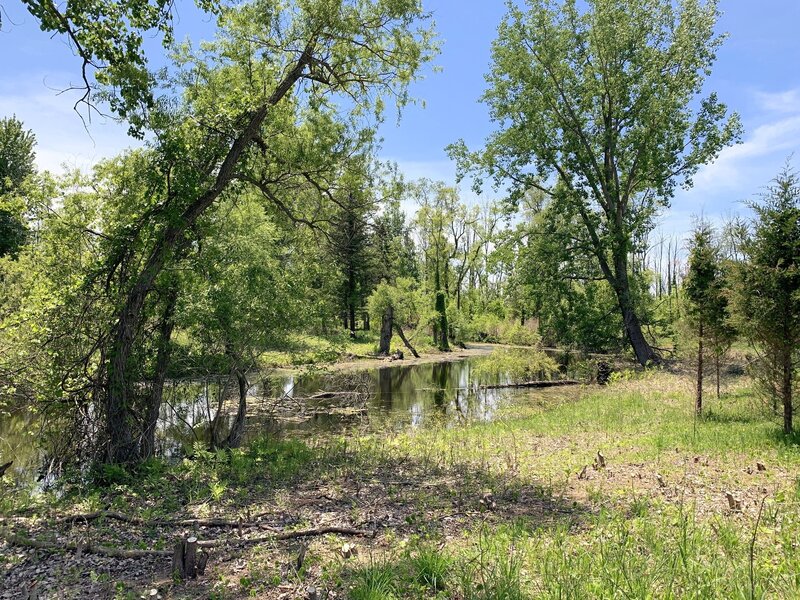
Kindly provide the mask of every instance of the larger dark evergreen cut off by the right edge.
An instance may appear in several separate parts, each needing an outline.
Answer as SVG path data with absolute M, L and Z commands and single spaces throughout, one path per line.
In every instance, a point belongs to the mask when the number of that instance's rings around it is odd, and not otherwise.
M 734 263 L 733 314 L 761 351 L 766 378 L 783 403 L 783 431 L 793 428 L 793 381 L 800 344 L 800 179 L 788 166 L 760 203 Z M 773 360 L 774 358 L 774 363 Z

